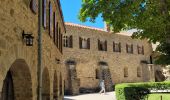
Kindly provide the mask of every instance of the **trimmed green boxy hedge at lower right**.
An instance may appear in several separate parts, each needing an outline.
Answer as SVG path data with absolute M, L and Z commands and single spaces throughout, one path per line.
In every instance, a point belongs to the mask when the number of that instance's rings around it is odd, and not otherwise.
M 115 86 L 117 100 L 143 100 L 150 90 L 170 89 L 168 82 L 123 83 Z

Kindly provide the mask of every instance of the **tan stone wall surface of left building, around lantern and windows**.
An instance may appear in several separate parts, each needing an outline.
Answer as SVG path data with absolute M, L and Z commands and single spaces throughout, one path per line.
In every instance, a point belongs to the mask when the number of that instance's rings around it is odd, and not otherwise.
M 11 72 L 14 78 L 15 100 L 37 100 L 38 14 L 34 14 L 31 11 L 31 1 L 32 0 L 0 0 L 0 93 L 2 92 L 7 72 Z M 64 33 L 65 29 L 59 9 L 60 7 L 56 1 L 51 0 L 51 2 L 53 9 L 56 9 L 56 19 L 61 28 L 61 33 Z M 22 38 L 23 31 L 25 31 L 25 33 L 32 33 L 34 37 L 33 46 L 26 46 Z M 48 80 L 48 83 L 43 81 L 45 87 L 42 88 L 48 90 L 49 98 L 53 100 L 54 73 L 56 72 L 57 99 L 61 100 L 63 98 L 63 92 L 61 89 L 59 90 L 59 87 L 62 86 L 63 90 L 64 70 L 61 63 L 58 63 L 56 59 L 61 60 L 62 53 L 56 47 L 53 38 L 49 36 L 48 28 L 43 30 L 42 34 L 42 71 L 46 72 L 46 77 L 43 77 L 45 78 L 44 80 Z M 23 64 L 18 64 L 21 62 L 23 62 Z M 12 65 L 14 65 L 14 67 Z M 26 92 L 28 90 L 30 91 L 29 93 Z

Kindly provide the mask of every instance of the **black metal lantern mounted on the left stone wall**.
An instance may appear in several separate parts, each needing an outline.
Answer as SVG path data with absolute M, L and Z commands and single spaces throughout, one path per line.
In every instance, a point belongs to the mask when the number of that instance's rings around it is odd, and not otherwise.
M 22 39 L 26 43 L 26 46 L 33 46 L 33 39 L 34 37 L 32 36 L 31 33 L 26 34 L 24 31 L 22 33 Z

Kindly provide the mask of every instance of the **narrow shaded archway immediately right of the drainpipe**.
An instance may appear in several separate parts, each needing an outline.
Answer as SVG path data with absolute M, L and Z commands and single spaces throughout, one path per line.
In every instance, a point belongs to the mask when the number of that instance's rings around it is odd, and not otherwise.
M 42 73 L 42 100 L 50 100 L 50 76 L 47 68 Z

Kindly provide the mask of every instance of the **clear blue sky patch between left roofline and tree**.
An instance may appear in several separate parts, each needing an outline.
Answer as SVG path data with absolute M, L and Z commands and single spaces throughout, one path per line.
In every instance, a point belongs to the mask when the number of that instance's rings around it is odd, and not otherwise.
M 79 21 L 78 13 L 81 8 L 81 1 L 82 0 L 60 0 L 64 15 L 64 21 L 97 28 L 103 28 L 104 23 L 101 17 L 97 18 L 95 23 L 92 22 L 82 23 Z

